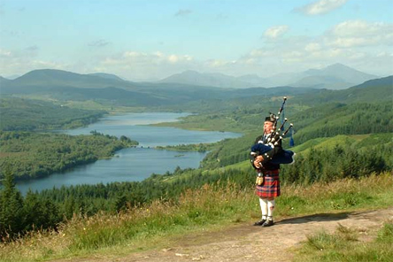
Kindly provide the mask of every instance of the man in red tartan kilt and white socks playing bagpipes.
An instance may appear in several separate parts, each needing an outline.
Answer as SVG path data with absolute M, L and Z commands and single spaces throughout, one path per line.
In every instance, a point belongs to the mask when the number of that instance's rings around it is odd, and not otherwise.
M 287 97 L 284 97 L 278 117 L 272 113 L 266 117 L 264 135 L 258 136 L 255 144 L 251 147 L 251 165 L 258 173 L 255 193 L 259 197 L 262 212 L 261 220 L 255 222 L 254 226 L 271 227 L 274 225 L 274 199 L 281 195 L 280 165 L 294 162 L 295 153 L 290 150 L 283 150 L 281 147 L 282 137 L 288 133 L 293 125 L 290 124 L 289 128 L 280 135 L 280 130 L 287 121 L 285 119 L 281 127 L 276 130 L 276 124 L 286 99 Z

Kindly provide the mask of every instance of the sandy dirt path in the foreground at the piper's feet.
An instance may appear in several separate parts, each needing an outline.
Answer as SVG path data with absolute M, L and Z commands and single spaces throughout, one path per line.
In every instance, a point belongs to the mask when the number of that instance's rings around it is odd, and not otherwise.
M 306 240 L 306 235 L 322 229 L 332 233 L 339 224 L 360 232 L 367 241 L 367 232 L 393 220 L 393 207 L 372 212 L 318 214 L 277 221 L 274 227 L 253 227 L 238 224 L 224 231 L 183 236 L 166 249 L 133 253 L 122 258 L 90 258 L 78 261 L 291 261 L 291 248 Z M 73 260 L 74 261 L 74 260 Z

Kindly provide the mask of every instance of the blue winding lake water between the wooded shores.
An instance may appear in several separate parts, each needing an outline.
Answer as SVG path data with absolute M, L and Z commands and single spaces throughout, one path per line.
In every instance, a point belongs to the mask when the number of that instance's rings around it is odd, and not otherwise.
M 49 177 L 31 181 L 19 181 L 17 187 L 22 194 L 28 189 L 59 188 L 78 184 L 109 183 L 112 181 L 143 181 L 152 173 L 166 173 L 180 166 L 196 168 L 206 153 L 155 150 L 155 146 L 213 143 L 225 138 L 235 138 L 241 134 L 231 132 L 190 131 L 174 127 L 153 127 L 149 124 L 177 121 L 188 113 L 127 113 L 112 115 L 100 121 L 61 133 L 68 135 L 89 135 L 91 131 L 104 135 L 126 135 L 139 142 L 136 148 L 119 150 L 114 158 L 98 160 L 95 163 L 78 166 L 63 173 L 53 173 Z

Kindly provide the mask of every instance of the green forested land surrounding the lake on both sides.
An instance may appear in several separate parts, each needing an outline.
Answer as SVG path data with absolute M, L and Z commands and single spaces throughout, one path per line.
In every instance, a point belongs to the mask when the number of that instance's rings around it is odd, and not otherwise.
M 391 83 L 389 86 L 384 81 L 381 85 L 368 83 L 357 89 L 313 90 L 289 96 L 284 113 L 294 123 L 295 132 L 284 139 L 283 147 L 289 148 L 292 136 L 295 146 L 290 150 L 297 152 L 297 158 L 294 165 L 281 167 L 282 182 L 309 185 L 391 171 L 391 87 Z M 29 191 L 26 196 L 16 189 L 15 180 L 50 175 L 73 165 L 111 157 L 114 151 L 135 146 L 137 142 L 125 136 L 116 138 L 95 132 L 78 136 L 42 133 L 86 125 L 105 112 L 68 108 L 49 101 L 2 99 L 0 239 L 27 234 L 35 228 L 56 228 L 74 214 L 117 213 L 156 199 L 176 201 L 187 189 L 205 184 L 220 186 L 218 181 L 231 181 L 240 188 L 250 186 L 254 181 L 248 160 L 250 145 L 262 132 L 266 112 L 279 109 L 281 91 L 276 96 L 204 97 L 185 104 L 146 107 L 145 110 L 161 112 L 187 108 L 197 113 L 180 122 L 158 125 L 243 133 L 240 138 L 219 143 L 171 147 L 209 151 L 198 169 L 153 173 L 145 181 Z M 325 96 L 328 98 L 322 99 Z M 347 99 L 343 100 L 343 96 Z

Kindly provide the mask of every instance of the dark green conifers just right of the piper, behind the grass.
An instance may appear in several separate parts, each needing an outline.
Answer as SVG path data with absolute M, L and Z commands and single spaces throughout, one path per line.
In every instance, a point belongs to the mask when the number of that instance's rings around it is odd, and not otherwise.
M 332 149 L 311 148 L 306 156 L 296 158 L 294 165 L 281 166 L 282 181 L 309 185 L 317 181 L 359 178 L 370 173 L 393 169 L 392 144 L 380 144 L 358 150 L 336 144 Z

